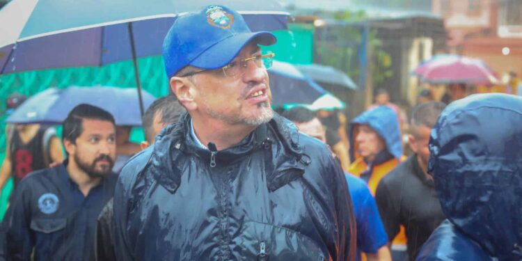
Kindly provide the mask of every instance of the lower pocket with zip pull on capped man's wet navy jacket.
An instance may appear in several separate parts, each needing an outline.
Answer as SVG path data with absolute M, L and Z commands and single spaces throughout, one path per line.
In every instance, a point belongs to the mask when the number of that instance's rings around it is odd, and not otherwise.
M 247 221 L 237 239 L 242 260 L 331 260 L 326 247 L 310 237 L 288 228 Z

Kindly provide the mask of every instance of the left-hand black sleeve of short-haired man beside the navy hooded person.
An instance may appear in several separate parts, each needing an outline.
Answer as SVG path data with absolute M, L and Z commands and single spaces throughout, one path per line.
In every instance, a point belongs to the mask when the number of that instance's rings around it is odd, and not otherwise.
M 391 242 L 400 231 L 400 206 L 397 200 L 394 200 L 386 182 L 382 181 L 375 192 L 375 200 L 388 240 Z

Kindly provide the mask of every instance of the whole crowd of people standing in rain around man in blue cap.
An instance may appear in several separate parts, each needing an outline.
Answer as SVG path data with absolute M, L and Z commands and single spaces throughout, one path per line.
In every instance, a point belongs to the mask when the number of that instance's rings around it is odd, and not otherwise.
M 260 49 L 275 42 L 225 6 L 178 17 L 173 94 L 141 144 L 88 104 L 61 141 L 8 126 L 0 260 L 522 260 L 521 97 L 423 91 L 408 120 L 380 89 L 349 121 L 279 115 Z

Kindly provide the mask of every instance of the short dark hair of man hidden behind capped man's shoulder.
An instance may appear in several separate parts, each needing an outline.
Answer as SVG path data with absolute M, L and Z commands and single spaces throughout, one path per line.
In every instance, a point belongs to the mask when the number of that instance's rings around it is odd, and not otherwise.
M 143 132 L 145 132 L 145 139 L 152 141 L 155 133 L 153 133 L 152 123 L 157 113 L 161 113 L 161 122 L 171 124 L 180 119 L 185 108 L 180 104 L 175 95 L 167 95 L 160 97 L 148 107 L 143 118 L 141 119 Z

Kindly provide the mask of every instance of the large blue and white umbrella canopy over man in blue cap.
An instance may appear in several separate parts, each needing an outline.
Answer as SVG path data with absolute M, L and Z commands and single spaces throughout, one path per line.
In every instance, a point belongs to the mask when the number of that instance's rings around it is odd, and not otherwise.
M 252 31 L 286 28 L 290 15 L 275 0 L 13 0 L 0 10 L 0 74 L 100 66 L 161 54 L 175 17 L 223 4 Z

